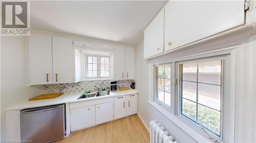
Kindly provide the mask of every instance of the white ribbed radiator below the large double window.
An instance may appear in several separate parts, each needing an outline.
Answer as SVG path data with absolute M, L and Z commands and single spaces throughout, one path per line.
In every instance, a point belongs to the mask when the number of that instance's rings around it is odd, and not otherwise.
M 150 143 L 179 143 L 156 120 L 150 122 Z

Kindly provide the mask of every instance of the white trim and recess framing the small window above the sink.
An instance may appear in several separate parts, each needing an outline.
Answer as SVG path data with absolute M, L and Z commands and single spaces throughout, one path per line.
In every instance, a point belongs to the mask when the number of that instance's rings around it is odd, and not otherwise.
M 94 53 L 81 52 L 81 81 L 92 81 L 92 80 L 113 80 L 113 53 L 101 54 L 101 52 L 93 51 Z M 86 70 L 88 68 L 87 56 L 97 56 L 97 77 L 87 77 Z M 110 65 L 110 76 L 100 77 L 100 57 L 108 57 Z M 99 67 L 99 68 L 98 68 Z

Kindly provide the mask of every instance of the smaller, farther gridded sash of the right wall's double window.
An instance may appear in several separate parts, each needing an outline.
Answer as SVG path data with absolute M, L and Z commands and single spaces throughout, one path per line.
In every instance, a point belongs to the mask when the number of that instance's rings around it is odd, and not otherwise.
M 171 65 L 156 66 L 156 101 L 159 101 L 168 107 L 171 106 L 172 92 L 172 71 Z

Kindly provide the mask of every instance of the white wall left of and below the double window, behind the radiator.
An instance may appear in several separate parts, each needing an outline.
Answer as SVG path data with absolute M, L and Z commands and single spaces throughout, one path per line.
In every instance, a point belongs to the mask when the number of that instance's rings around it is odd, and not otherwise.
M 143 121 L 150 125 L 152 119 L 156 119 L 166 130 L 172 134 L 179 142 L 195 142 L 189 137 L 184 131 L 176 126 L 172 121 L 168 120 L 153 106 L 147 103 L 148 100 L 148 64 L 143 60 L 143 41 L 135 48 L 135 59 L 136 59 L 136 89 L 139 91 L 138 96 L 138 112 L 142 117 Z

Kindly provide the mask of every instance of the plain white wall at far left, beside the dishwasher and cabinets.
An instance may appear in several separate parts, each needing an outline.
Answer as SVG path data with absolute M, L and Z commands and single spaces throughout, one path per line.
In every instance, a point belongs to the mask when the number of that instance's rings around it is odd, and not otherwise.
M 5 109 L 42 94 L 42 85 L 27 87 L 26 41 L 25 36 L 1 37 L 1 139 L 5 139 Z

